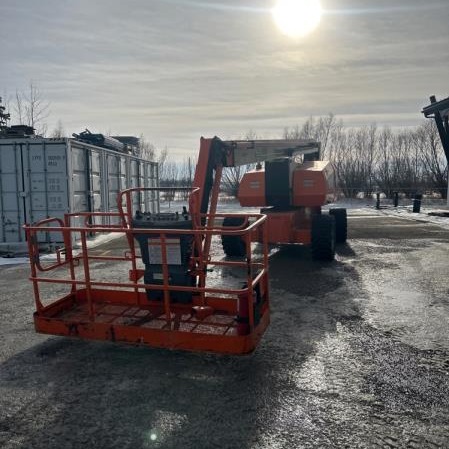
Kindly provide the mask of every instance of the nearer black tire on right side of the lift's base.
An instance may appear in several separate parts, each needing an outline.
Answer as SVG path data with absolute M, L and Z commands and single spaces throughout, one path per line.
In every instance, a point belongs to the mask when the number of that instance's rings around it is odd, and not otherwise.
M 312 257 L 333 260 L 335 256 L 335 218 L 332 215 L 312 217 Z

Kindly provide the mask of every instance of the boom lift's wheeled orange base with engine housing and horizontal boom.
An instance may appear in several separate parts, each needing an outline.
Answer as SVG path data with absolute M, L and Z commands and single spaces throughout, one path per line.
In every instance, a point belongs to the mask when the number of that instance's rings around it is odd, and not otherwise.
M 311 245 L 318 260 L 332 260 L 335 243 L 347 238 L 346 209 L 321 213 L 321 206 L 335 199 L 336 187 L 332 165 L 319 161 L 320 144 L 314 140 L 212 140 L 226 157 L 223 166 L 265 162 L 244 174 L 238 192 L 241 206 L 262 207 L 267 216 L 269 243 Z M 200 152 L 200 160 L 207 160 Z M 196 184 L 200 185 L 200 183 Z M 206 194 L 207 189 L 203 189 Z M 205 200 L 204 200 L 205 201 Z M 229 217 L 224 226 L 238 226 L 241 220 Z M 262 241 L 262 235 L 256 236 Z M 236 236 L 222 237 L 228 256 L 243 256 L 245 245 Z

